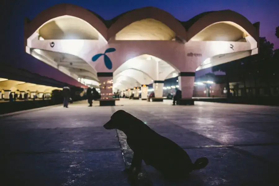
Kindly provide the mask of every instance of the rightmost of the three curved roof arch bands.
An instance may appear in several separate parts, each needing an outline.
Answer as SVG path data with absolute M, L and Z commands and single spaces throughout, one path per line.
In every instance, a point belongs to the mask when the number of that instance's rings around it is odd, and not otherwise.
M 210 12 L 198 19 L 188 29 L 188 40 L 193 38 L 197 33 L 206 29 L 208 26 L 219 22 L 235 23 L 236 25 L 239 25 L 241 28 L 246 30 L 246 32 L 248 32 L 255 40 L 258 39 L 259 27 L 255 27 L 246 17 L 235 11 L 223 10 Z

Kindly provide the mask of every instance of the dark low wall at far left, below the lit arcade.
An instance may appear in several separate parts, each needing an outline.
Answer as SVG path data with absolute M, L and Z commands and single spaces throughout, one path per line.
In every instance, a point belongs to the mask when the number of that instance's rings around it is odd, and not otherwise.
M 0 103 L 0 114 L 62 104 L 63 100 L 13 101 Z

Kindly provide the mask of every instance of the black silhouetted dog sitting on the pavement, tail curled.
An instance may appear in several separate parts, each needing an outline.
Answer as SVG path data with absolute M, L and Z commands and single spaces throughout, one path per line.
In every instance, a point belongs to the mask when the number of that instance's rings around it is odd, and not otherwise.
M 134 151 L 130 173 L 141 171 L 141 163 L 153 166 L 166 177 L 187 176 L 192 170 L 204 168 L 208 164 L 206 157 L 192 163 L 188 154 L 170 139 L 159 135 L 144 122 L 124 110 L 118 110 L 104 124 L 105 129 L 118 129 L 127 136 L 127 144 Z

